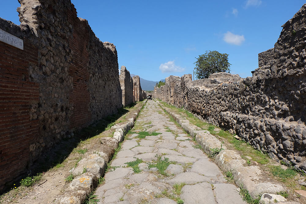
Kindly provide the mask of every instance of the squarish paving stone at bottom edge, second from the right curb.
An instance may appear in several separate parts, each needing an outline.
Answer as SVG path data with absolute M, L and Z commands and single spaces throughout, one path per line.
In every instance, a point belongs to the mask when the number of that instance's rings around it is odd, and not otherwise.
M 211 184 L 208 183 L 199 183 L 192 186 L 185 185 L 182 187 L 181 198 L 185 201 L 184 203 L 188 204 L 216 203 L 214 192 L 211 189 Z

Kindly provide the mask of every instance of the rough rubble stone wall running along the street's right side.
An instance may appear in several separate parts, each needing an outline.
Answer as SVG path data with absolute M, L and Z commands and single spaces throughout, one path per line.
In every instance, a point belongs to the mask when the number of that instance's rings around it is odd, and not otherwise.
M 217 73 L 191 81 L 184 75 L 172 104 L 306 172 L 305 15 L 306 4 L 283 25 L 274 48 L 259 54 L 253 77 Z M 155 97 L 169 102 L 170 84 L 155 88 Z

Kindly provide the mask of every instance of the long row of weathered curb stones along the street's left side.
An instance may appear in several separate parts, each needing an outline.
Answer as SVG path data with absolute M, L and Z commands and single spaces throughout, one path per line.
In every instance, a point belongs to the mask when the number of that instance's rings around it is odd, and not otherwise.
M 116 124 L 111 127 L 111 129 L 116 130 L 113 137 L 105 137 L 103 140 L 100 140 L 102 144 L 111 147 L 110 149 L 104 150 L 106 152 L 97 149 L 98 154 L 89 154 L 78 162 L 76 168 L 72 171 L 73 175 L 80 174 L 85 168 L 86 172 L 76 176 L 70 182 L 67 189 L 61 195 L 57 196 L 55 203 L 82 204 L 85 201 L 86 197 L 91 193 L 91 191 L 98 186 L 98 179 L 101 176 L 104 176 L 104 171 L 107 164 L 101 155 L 111 154 L 111 157 L 114 155 L 114 149 L 118 148 L 119 143 L 124 139 L 124 135 L 134 127 L 135 120 L 146 102 L 147 99 L 144 100 L 142 106 L 137 104 L 138 107 L 136 107 L 136 109 L 133 110 L 129 116 L 127 116 L 127 122 Z

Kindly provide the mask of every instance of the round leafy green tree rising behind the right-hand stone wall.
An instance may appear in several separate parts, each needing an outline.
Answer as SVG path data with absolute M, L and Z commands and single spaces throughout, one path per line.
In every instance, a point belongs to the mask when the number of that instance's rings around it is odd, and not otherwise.
M 196 62 L 195 73 L 196 78 L 204 79 L 212 73 L 228 72 L 230 73 L 230 63 L 228 62 L 229 55 L 219 53 L 218 51 L 207 51 L 205 54 L 199 55 Z

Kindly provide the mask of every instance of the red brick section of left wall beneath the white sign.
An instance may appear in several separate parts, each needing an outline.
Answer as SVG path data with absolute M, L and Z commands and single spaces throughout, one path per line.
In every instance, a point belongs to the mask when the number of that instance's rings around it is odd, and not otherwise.
M 37 65 L 37 48 L 23 32 L 2 19 L 0 28 L 9 28 L 24 39 L 24 50 L 0 42 L 0 190 L 5 178 L 25 172 L 30 161 L 30 144 L 39 137 L 39 123 L 30 117 L 39 101 L 39 86 L 29 78 L 29 66 Z M 16 35 L 16 34 L 15 34 Z

